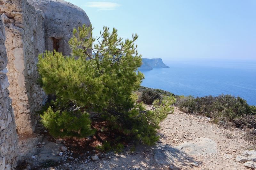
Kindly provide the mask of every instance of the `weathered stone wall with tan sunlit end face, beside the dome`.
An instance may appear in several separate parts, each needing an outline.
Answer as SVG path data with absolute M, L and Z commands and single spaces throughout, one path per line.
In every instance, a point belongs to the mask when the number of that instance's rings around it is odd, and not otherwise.
M 19 134 L 33 133 L 35 111 L 44 102 L 44 92 L 36 84 L 37 55 L 44 52 L 44 14 L 27 0 L 0 0 L 6 33 L 7 74 L 10 97 Z

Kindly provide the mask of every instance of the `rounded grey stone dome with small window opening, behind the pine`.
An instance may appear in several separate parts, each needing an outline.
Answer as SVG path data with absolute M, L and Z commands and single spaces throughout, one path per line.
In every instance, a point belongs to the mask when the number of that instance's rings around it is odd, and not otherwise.
M 73 36 L 74 27 L 91 25 L 84 10 L 63 0 L 28 0 L 28 2 L 44 12 L 46 50 L 55 49 L 64 55 L 70 55 L 68 41 Z M 92 53 L 92 50 L 88 52 Z

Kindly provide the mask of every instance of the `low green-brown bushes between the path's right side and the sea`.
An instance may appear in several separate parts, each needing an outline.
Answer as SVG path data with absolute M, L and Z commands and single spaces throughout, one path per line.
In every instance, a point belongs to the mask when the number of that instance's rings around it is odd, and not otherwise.
M 187 96 L 180 98 L 177 104 L 184 112 L 203 114 L 218 124 L 233 123 L 237 127 L 256 128 L 256 107 L 248 105 L 239 96 Z

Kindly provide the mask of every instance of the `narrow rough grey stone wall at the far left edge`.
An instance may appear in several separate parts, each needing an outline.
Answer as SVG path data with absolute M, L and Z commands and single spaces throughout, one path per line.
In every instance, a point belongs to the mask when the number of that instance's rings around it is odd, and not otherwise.
M 18 138 L 12 110 L 12 99 L 9 97 L 7 79 L 7 54 L 5 49 L 5 31 L 0 16 L 0 170 L 14 169 L 18 156 Z

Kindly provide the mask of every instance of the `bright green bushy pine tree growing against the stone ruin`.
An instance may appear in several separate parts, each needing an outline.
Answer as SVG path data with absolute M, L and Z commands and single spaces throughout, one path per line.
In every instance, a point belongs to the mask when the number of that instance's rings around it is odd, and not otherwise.
M 156 129 L 160 121 L 173 112 L 174 97 L 156 100 L 151 110 L 136 103 L 133 91 L 139 89 L 144 75 L 134 42 L 118 37 L 117 30 L 103 27 L 97 39 L 92 26 L 74 29 L 69 46 L 71 56 L 46 51 L 38 57 L 39 83 L 56 100 L 41 115 L 44 126 L 55 137 L 86 137 L 92 135 L 89 113 L 98 113 L 113 130 L 144 144 L 158 140 Z M 92 48 L 92 43 L 97 40 Z M 88 53 L 92 48 L 93 53 Z

